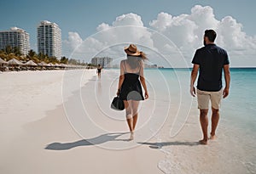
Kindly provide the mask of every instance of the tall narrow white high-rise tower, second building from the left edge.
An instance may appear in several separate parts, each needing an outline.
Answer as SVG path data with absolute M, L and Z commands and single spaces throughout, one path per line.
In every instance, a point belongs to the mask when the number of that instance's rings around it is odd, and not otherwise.
M 47 20 L 38 25 L 38 53 L 61 59 L 61 29 Z

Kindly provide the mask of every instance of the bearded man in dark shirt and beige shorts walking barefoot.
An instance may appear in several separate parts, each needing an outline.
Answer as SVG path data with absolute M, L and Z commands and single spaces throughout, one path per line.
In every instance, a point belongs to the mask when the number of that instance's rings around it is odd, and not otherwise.
M 209 139 L 215 139 L 218 126 L 219 108 L 221 98 L 226 98 L 230 91 L 230 61 L 227 52 L 219 48 L 214 40 L 217 34 L 213 30 L 206 30 L 204 34 L 204 47 L 195 51 L 192 60 L 190 93 L 193 97 L 197 93 L 198 109 L 200 109 L 200 122 L 203 139 L 199 142 L 207 144 L 208 141 L 208 107 L 211 100 L 212 106 L 212 132 Z M 197 89 L 195 92 L 195 79 L 199 70 Z M 222 71 L 224 70 L 225 87 L 222 86 Z

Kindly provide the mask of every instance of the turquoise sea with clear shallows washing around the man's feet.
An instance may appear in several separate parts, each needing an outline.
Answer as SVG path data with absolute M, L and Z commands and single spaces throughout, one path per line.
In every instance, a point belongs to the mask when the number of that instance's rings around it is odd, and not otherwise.
M 149 91 L 154 89 L 151 98 L 156 102 L 168 101 L 169 113 L 173 113 L 158 134 L 159 143 L 148 143 L 166 154 L 166 159 L 158 164 L 160 170 L 256 173 L 256 68 L 230 69 L 230 95 L 221 103 L 218 140 L 208 146 L 194 142 L 201 139 L 201 127 L 196 98 L 189 94 L 190 72 L 191 69 L 145 70 Z M 210 132 L 211 112 L 208 118 Z

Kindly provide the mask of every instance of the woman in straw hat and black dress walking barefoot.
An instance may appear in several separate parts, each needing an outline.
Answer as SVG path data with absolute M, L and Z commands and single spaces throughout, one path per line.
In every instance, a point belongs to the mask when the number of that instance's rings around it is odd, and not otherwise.
M 148 89 L 144 78 L 144 63 L 146 54 L 138 51 L 137 46 L 131 44 L 125 48 L 127 59 L 120 62 L 120 76 L 117 95 L 124 100 L 126 121 L 131 137 L 134 138 L 134 130 L 137 124 L 137 109 L 141 100 L 148 98 Z M 143 96 L 143 89 L 144 96 Z

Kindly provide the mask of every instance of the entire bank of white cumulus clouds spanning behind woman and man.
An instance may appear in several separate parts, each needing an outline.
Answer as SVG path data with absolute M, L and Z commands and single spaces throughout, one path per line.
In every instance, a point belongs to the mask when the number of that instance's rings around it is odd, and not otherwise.
M 195 49 L 203 46 L 204 31 L 213 29 L 217 31 L 216 43 L 228 51 L 231 65 L 256 66 L 256 37 L 247 36 L 241 23 L 231 16 L 218 20 L 213 12 L 211 7 L 200 5 L 191 8 L 191 14 L 172 16 L 161 12 L 149 22 L 150 28 L 144 26 L 141 16 L 122 14 L 112 24 L 98 25 L 96 34 L 85 40 L 79 33 L 69 32 L 63 47 L 69 48 L 70 53 L 73 49 L 74 57 L 90 62 L 95 55 L 124 58 L 123 48 L 136 43 L 154 64 L 185 66 L 191 65 Z

